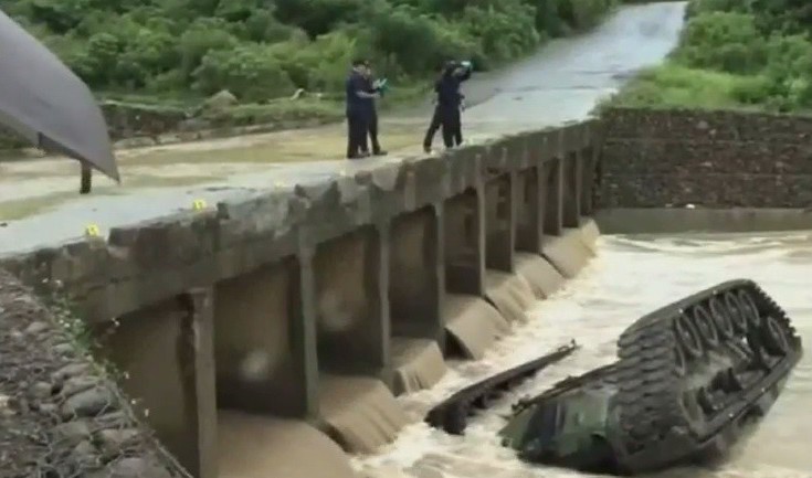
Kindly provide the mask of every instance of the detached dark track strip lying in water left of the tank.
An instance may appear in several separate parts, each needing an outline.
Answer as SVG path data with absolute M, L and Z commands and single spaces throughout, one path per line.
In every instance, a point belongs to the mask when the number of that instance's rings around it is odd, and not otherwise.
M 541 369 L 569 357 L 579 348 L 580 346 L 572 340 L 569 344 L 559 347 L 538 359 L 468 385 L 434 406 L 426 414 L 425 422 L 434 428 L 442 428 L 447 434 L 463 435 L 467 426 L 467 418 L 476 410 L 487 408 L 494 399 L 515 389 L 521 382 L 536 375 Z

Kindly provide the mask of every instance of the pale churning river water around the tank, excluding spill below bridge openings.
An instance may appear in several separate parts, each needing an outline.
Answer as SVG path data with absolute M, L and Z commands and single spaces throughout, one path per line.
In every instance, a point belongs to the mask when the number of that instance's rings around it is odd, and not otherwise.
M 539 302 L 530 323 L 478 362 L 452 364 L 432 390 L 401 399 L 416 414 L 465 384 L 525 362 L 576 338 L 582 349 L 470 422 L 464 437 L 419 423 L 380 454 L 355 466 L 370 477 L 530 478 L 583 476 L 519 463 L 498 445 L 500 415 L 520 395 L 540 392 L 570 374 L 613 360 L 614 341 L 634 319 L 665 302 L 730 278 L 760 283 L 812 339 L 812 232 L 772 235 L 602 237 L 599 256 L 555 297 Z M 715 469 L 679 469 L 668 477 L 812 478 L 812 357 L 794 370 L 784 392 L 755 434 Z

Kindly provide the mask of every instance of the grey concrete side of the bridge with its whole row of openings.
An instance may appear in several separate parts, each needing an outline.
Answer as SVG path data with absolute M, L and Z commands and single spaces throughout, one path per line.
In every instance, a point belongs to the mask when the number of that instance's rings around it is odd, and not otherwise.
M 587 121 L 381 161 L 3 266 L 59 285 L 102 329 L 117 318 L 106 343 L 128 392 L 196 476 L 217 476 L 218 407 L 319 424 L 326 373 L 392 386 L 393 340 L 444 348 L 446 294 L 504 314 L 486 273 L 513 272 L 516 251 L 574 274 L 582 261 L 559 240 L 592 212 L 600 132 Z

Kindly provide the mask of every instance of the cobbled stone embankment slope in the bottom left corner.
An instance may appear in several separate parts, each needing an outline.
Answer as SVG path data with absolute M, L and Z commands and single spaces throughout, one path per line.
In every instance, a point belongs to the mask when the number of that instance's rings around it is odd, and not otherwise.
M 190 477 L 46 308 L 0 270 L 0 476 Z

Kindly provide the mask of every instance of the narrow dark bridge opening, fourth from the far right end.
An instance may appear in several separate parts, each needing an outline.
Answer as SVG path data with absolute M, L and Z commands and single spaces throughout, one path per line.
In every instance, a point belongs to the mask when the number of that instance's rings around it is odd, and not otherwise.
M 540 254 L 545 227 L 547 193 L 541 167 L 520 171 L 516 185 L 516 249 Z

